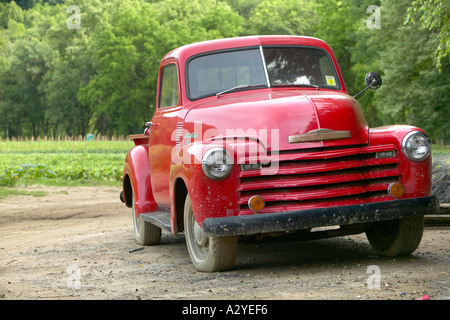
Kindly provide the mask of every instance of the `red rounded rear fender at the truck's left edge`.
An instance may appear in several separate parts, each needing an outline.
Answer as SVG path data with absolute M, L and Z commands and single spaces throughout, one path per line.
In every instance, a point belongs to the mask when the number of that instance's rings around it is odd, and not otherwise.
M 147 144 L 135 146 L 125 158 L 123 170 L 124 202 L 127 207 L 131 207 L 131 195 L 134 195 L 136 215 L 157 210 L 152 194 L 148 161 Z

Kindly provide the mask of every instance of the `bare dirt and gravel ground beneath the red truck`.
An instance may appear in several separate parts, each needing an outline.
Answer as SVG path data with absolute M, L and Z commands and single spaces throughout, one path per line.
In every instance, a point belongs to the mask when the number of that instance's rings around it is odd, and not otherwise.
M 0 300 L 450 299 L 449 227 L 426 227 L 399 258 L 375 255 L 364 234 L 241 242 L 234 269 L 201 273 L 183 234 L 135 243 L 118 188 L 30 189 L 46 195 L 0 200 Z

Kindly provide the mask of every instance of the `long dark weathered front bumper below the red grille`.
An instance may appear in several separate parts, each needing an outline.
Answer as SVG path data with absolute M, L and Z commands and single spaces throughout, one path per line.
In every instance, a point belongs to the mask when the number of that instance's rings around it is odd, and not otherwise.
M 302 229 L 393 220 L 436 213 L 435 196 L 342 207 L 207 218 L 203 231 L 213 237 L 289 232 Z

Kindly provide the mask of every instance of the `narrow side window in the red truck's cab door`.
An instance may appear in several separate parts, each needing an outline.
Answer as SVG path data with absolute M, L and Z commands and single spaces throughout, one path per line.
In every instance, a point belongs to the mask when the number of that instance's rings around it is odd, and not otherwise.
M 159 93 L 159 107 L 166 108 L 178 104 L 178 76 L 177 66 L 169 64 L 161 71 L 161 87 Z

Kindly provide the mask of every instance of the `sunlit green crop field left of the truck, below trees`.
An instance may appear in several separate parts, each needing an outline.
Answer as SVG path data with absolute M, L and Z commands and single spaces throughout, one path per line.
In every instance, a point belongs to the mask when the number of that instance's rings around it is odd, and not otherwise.
M 0 141 L 0 186 L 120 185 L 129 140 Z

